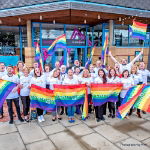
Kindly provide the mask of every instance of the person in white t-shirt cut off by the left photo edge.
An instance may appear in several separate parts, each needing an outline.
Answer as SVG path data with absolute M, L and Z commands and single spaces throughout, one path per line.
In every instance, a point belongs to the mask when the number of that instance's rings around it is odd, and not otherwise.
M 0 79 L 2 79 L 2 77 L 4 75 L 6 75 L 7 71 L 5 70 L 5 64 L 3 62 L 0 62 Z M 0 119 L 3 118 L 3 106 L 0 108 Z

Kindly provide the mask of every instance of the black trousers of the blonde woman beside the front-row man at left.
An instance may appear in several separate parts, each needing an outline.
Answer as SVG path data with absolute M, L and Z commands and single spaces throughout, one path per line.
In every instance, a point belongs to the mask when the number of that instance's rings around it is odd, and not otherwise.
M 29 96 L 21 96 L 22 104 L 23 104 L 23 115 L 27 116 L 30 108 L 30 97 Z

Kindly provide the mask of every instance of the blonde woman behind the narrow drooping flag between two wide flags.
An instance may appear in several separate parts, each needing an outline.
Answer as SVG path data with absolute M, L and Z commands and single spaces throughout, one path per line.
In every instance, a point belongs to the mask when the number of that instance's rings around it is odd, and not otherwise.
M 91 113 L 92 112 L 92 105 L 91 105 L 92 95 L 91 95 L 90 85 L 91 85 L 91 83 L 93 83 L 93 78 L 91 77 L 88 69 L 83 70 L 83 74 L 82 74 L 82 77 L 79 79 L 79 83 L 86 84 L 88 87 L 88 91 L 87 91 L 88 92 L 87 93 L 88 94 L 88 104 L 89 104 L 88 111 L 89 111 L 89 113 Z

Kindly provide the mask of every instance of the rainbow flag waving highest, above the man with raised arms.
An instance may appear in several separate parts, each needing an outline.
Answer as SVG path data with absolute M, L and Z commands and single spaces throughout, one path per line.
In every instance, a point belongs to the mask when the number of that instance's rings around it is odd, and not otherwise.
M 132 32 L 132 37 L 145 40 L 147 24 L 143 24 L 143 23 L 136 22 L 133 20 L 133 25 L 130 26 L 130 31 Z

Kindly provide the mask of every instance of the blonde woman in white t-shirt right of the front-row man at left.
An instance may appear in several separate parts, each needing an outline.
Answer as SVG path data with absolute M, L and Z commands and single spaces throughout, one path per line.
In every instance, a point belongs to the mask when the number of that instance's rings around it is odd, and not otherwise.
M 29 122 L 28 113 L 30 108 L 30 81 L 31 76 L 29 76 L 29 69 L 27 67 L 23 68 L 23 74 L 20 77 L 20 96 L 23 104 L 23 114 L 24 120 Z

